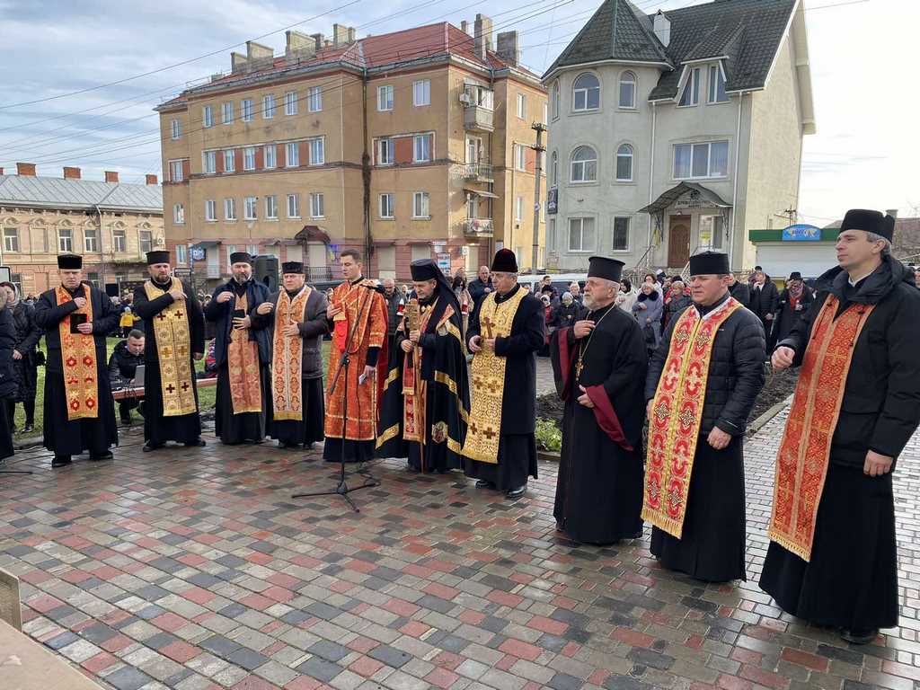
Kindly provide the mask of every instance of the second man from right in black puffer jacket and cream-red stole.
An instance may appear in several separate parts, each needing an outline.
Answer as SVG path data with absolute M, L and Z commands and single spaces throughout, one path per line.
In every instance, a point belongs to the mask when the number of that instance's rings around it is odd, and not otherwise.
M 690 258 L 693 305 L 668 325 L 645 385 L 651 553 L 711 582 L 746 579 L 742 440 L 764 387 L 764 328 L 728 288 L 727 255 Z

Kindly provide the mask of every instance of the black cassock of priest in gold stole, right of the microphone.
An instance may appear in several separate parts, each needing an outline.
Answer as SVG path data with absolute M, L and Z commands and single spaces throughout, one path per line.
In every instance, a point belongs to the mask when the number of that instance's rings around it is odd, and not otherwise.
M 501 304 L 523 289 L 516 285 L 509 293 L 496 294 L 495 300 Z M 482 301 L 469 319 L 467 343 L 474 336 L 485 337 L 479 328 L 481 306 Z M 495 343 L 495 354 L 507 358 L 501 396 L 499 462 L 492 465 L 467 457 L 464 471 L 467 477 L 492 482 L 500 491 L 523 487 L 528 476 L 536 478 L 536 352 L 546 342 L 545 332 L 543 303 L 535 295 L 527 294 L 514 314 L 511 335 Z

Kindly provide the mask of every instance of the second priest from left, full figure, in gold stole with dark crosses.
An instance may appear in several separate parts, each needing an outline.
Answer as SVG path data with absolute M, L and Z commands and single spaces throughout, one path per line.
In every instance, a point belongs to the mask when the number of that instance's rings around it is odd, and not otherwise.
M 204 445 L 195 361 L 204 356 L 204 316 L 195 293 L 170 275 L 168 251 L 147 252 L 150 280 L 134 288 L 144 319 L 144 453 L 167 441 Z

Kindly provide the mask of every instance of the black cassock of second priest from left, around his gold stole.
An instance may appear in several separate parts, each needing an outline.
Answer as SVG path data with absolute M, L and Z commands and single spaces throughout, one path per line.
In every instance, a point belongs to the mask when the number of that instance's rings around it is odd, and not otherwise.
M 163 390 L 160 378 L 159 348 L 156 344 L 154 318 L 173 300 L 169 294 L 172 281 L 160 285 L 151 281 L 159 295 L 153 300 L 147 298 L 144 285 L 134 288 L 134 313 L 144 319 L 144 441 L 151 443 L 196 443 L 201 436 L 201 418 L 198 410 L 178 417 L 163 416 Z M 198 407 L 198 385 L 195 383 L 195 362 L 191 355 L 204 353 L 204 316 L 201 314 L 201 305 L 195 293 L 185 282 L 182 283 L 185 291 L 185 315 L 189 319 L 189 362 L 191 365 L 191 385 L 195 391 L 195 407 Z

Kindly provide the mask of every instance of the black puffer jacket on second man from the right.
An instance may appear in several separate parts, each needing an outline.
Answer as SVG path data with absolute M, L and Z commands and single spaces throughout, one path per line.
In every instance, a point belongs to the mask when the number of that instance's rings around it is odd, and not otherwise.
M 726 294 L 716 305 L 729 298 Z M 687 307 L 697 308 L 695 306 Z M 645 397 L 655 397 L 658 379 L 671 347 L 674 326 L 680 319 L 675 315 L 661 339 L 661 345 L 652 354 L 649 375 L 645 381 Z M 729 316 L 719 330 L 709 359 L 706 380 L 706 401 L 703 404 L 703 422 L 700 434 L 708 434 L 714 426 L 732 436 L 740 436 L 747 428 L 753 403 L 764 387 L 764 360 L 766 339 L 764 326 L 753 312 L 742 307 Z

